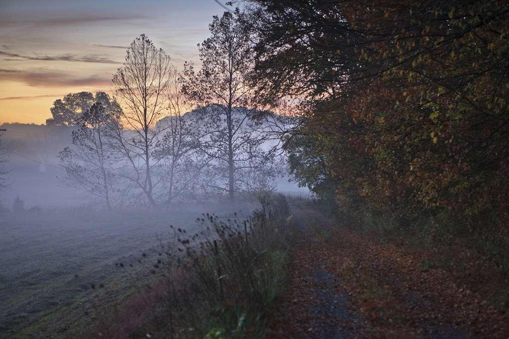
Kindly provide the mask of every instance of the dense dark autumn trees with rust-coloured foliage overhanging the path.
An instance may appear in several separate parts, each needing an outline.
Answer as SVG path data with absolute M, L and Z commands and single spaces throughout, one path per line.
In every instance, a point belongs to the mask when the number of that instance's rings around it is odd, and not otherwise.
M 509 270 L 509 5 L 251 1 L 292 172 L 363 227 L 468 239 Z

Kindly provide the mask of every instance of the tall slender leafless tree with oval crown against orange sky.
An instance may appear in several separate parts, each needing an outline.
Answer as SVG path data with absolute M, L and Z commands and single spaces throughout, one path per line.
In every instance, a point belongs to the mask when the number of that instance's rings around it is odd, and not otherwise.
M 115 147 L 126 163 L 123 175 L 154 207 L 154 188 L 160 181 L 154 181 L 152 175 L 157 165 L 152 152 L 164 132 L 155 125 L 166 112 L 165 94 L 172 74 L 169 56 L 141 35 L 129 46 L 124 65 L 112 80 L 123 104 L 124 126 L 118 125 L 115 134 Z

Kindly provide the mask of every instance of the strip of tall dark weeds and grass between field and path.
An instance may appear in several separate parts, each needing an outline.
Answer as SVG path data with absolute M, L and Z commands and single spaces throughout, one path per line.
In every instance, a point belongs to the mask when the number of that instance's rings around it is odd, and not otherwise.
M 282 195 L 260 198 L 247 220 L 203 214 L 202 231 L 175 229 L 177 245 L 161 244 L 153 273 L 164 278 L 131 298 L 102 337 L 262 337 L 267 311 L 281 292 L 292 235 Z M 144 296 L 145 295 L 145 296 Z

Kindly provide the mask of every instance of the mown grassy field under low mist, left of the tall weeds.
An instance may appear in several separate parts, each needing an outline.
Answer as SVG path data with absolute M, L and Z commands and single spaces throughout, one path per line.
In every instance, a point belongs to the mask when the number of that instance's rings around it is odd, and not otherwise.
M 153 278 L 151 257 L 161 241 L 175 239 L 170 224 L 192 233 L 203 212 L 242 218 L 254 207 L 8 216 L 0 221 L 0 337 L 69 337 L 86 329 L 101 304 L 115 303 Z

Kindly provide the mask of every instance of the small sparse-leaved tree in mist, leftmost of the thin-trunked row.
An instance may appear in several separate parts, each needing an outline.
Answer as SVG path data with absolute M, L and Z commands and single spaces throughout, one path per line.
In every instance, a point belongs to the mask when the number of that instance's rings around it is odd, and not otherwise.
M 117 107 L 107 111 L 100 102 L 93 104 L 76 119 L 79 127 L 72 131 L 72 146 L 59 153 L 69 186 L 104 199 L 110 210 L 114 173 L 108 138 L 121 112 Z

